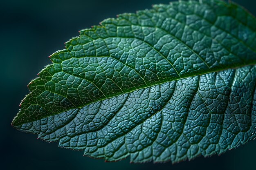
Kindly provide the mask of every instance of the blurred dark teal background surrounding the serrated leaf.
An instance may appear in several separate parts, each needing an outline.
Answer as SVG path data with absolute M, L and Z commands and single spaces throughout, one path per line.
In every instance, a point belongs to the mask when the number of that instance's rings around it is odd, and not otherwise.
M 256 1 L 234 0 L 256 15 Z M 256 141 L 221 156 L 193 161 L 130 164 L 83 157 L 83 151 L 58 148 L 58 143 L 19 132 L 11 121 L 20 101 L 29 93 L 27 84 L 51 62 L 48 56 L 64 48 L 78 31 L 116 14 L 150 8 L 169 0 L 60 0 L 0 1 L 0 169 L 2 170 L 246 170 L 256 169 Z

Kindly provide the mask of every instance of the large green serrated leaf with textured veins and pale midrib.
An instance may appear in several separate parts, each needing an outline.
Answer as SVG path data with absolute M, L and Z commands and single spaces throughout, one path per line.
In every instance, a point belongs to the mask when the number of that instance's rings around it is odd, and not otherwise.
M 61 147 L 175 163 L 256 137 L 256 19 L 232 2 L 121 14 L 50 59 L 12 125 Z

